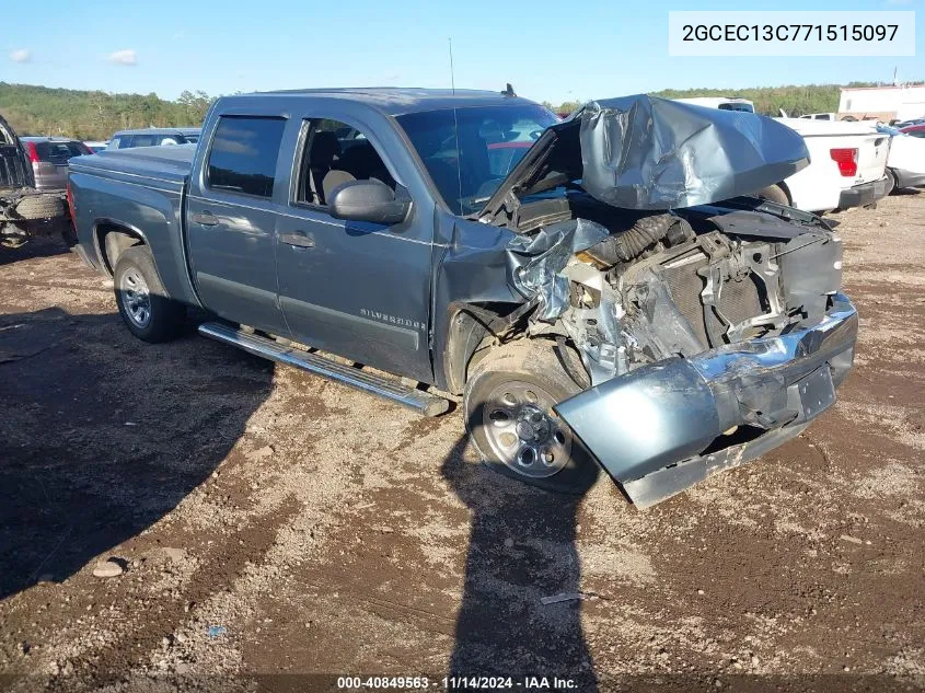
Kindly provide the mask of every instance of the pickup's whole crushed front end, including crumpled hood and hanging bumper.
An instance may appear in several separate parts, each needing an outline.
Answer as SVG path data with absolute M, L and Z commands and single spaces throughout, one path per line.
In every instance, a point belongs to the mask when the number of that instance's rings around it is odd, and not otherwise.
M 517 230 L 510 284 L 536 307 L 522 336 L 580 356 L 585 390 L 554 408 L 638 507 L 832 405 L 857 339 L 841 239 L 748 197 L 806 165 L 799 136 L 634 96 L 586 106 L 537 145 L 479 220 Z

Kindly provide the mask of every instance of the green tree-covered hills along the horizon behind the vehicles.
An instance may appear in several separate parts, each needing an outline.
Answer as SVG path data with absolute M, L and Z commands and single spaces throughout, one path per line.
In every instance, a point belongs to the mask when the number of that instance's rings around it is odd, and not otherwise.
M 876 82 L 851 82 L 847 86 L 877 86 Z M 666 99 L 739 96 L 754 102 L 755 111 L 777 115 L 826 113 L 839 109 L 839 84 L 756 86 L 751 89 L 666 89 L 652 92 Z M 157 94 L 111 94 L 103 91 L 50 89 L 0 82 L 0 115 L 23 135 L 54 135 L 83 140 L 106 140 L 116 130 L 143 127 L 198 126 L 215 97 L 203 91 L 185 91 L 175 101 Z M 557 106 L 570 113 L 580 103 Z

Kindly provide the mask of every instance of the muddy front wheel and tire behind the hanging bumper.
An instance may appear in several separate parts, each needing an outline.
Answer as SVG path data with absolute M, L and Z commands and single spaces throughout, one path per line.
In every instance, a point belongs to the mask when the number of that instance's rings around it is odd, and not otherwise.
M 571 354 L 570 358 L 577 361 L 577 367 L 583 373 L 578 356 Z M 510 392 L 507 392 L 508 390 Z M 494 347 L 470 372 L 463 397 L 466 430 L 483 462 L 489 469 L 531 486 L 556 493 L 585 493 L 598 477 L 598 465 L 551 407 L 552 404 L 578 394 L 581 390 L 563 367 L 551 343 L 523 339 Z M 513 407 L 505 406 L 505 396 L 513 393 L 517 393 L 516 401 L 523 401 Z M 525 396 L 521 396 L 521 393 Z M 533 394 L 535 400 L 531 401 L 530 394 Z M 517 462 L 519 451 L 525 450 L 519 430 L 514 435 L 516 442 L 509 448 L 510 454 L 505 459 L 499 454 L 504 446 L 498 439 L 508 431 L 499 436 L 497 430 L 489 431 L 487 427 L 496 424 L 496 417 L 501 412 L 506 412 L 508 418 L 519 420 L 519 416 L 529 415 L 525 412 L 530 411 L 533 403 L 537 405 L 534 408 L 542 409 L 546 417 L 546 424 L 537 429 L 541 431 L 539 440 L 544 441 L 539 443 L 539 449 L 544 457 L 553 457 L 553 460 L 547 463 L 535 454 L 527 455 L 532 458 L 532 462 L 524 465 Z M 500 409 L 495 408 L 498 406 Z M 535 412 L 533 414 L 535 415 Z M 504 416 L 501 418 L 504 419 Z M 501 421 L 501 425 L 509 424 Z M 536 431 L 531 429 L 530 432 Z M 559 435 L 568 442 L 567 446 L 559 442 Z M 551 444 L 546 446 L 546 442 Z M 517 446 L 517 451 L 513 446 Z M 532 443 L 527 443 L 525 447 L 536 449 Z

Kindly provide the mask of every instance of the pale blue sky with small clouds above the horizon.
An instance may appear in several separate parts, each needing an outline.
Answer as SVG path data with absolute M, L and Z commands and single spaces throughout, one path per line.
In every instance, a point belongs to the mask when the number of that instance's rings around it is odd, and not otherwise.
M 311 86 L 502 89 L 554 103 L 666 88 L 925 80 L 914 58 L 670 58 L 668 11 L 771 9 L 747 0 L 3 0 L 0 81 L 209 94 Z M 775 10 L 918 10 L 925 0 L 776 0 Z M 28 18 L 28 19 L 27 19 Z M 27 21 L 26 21 L 27 19 Z M 925 44 L 918 18 L 916 44 Z

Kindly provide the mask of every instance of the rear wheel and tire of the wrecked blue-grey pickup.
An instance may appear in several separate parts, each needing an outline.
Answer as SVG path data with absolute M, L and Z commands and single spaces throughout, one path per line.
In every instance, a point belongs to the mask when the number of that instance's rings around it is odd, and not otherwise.
M 119 315 L 139 339 L 167 342 L 183 330 L 186 309 L 167 297 L 147 245 L 134 245 L 119 255 L 113 286 Z

